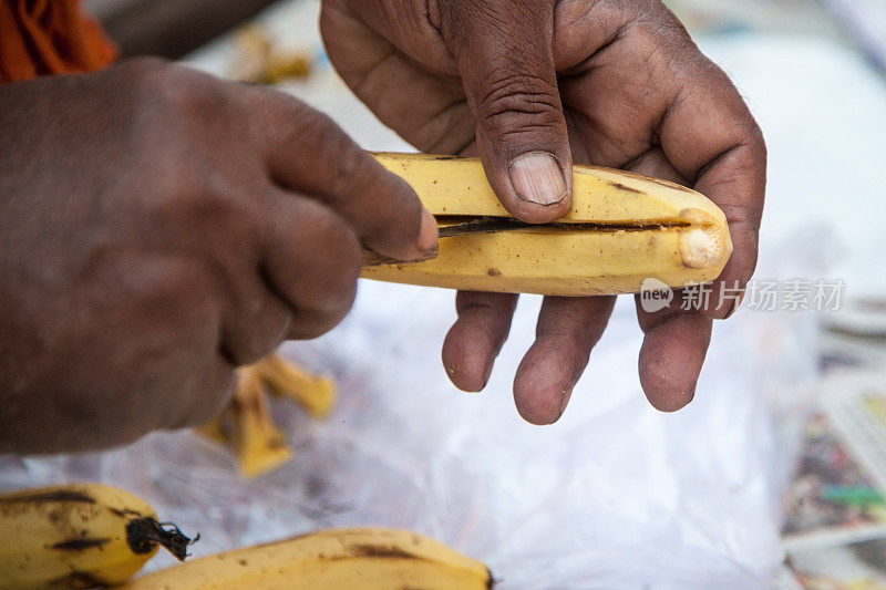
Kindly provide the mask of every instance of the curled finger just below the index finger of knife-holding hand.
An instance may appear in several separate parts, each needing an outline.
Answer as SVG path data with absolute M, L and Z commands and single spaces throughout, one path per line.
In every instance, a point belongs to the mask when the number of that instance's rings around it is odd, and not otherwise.
M 353 304 L 362 261 L 357 235 L 341 216 L 312 199 L 281 190 L 270 203 L 262 277 L 290 308 L 289 337 L 316 338 Z

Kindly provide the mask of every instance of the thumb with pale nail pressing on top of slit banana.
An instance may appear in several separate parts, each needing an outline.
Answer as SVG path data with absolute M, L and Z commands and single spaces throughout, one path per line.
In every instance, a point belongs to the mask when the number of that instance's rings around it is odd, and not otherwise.
M 554 0 L 441 2 L 490 184 L 532 222 L 569 209 L 571 155 L 554 66 Z

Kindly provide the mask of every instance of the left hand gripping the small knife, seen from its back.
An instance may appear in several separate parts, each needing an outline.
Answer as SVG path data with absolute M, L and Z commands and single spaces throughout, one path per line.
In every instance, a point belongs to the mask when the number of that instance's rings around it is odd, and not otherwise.
M 414 192 L 279 92 L 153 60 L 0 86 L 0 453 L 200 424 L 234 369 L 336 325 Z

